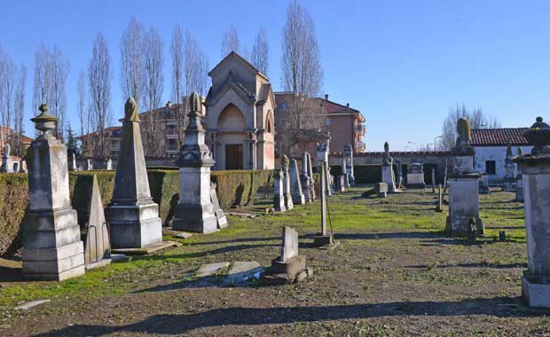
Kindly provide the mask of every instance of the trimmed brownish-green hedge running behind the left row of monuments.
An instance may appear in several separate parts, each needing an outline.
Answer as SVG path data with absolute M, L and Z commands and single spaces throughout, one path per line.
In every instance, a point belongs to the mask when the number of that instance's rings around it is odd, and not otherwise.
M 71 172 L 69 192 L 71 204 L 76 209 L 78 223 L 85 223 L 93 175 L 98 177 L 98 187 L 103 205 L 113 196 L 114 171 L 93 170 Z M 179 171 L 176 169 L 150 169 L 147 171 L 149 188 L 159 213 L 164 220 L 169 214 L 170 200 L 178 199 Z M 271 187 L 271 170 L 213 171 L 210 178 L 217 184 L 216 192 L 222 208 L 253 204 L 259 190 Z M 13 253 L 20 247 L 20 223 L 28 204 L 28 182 L 25 174 L 0 174 L 0 255 Z

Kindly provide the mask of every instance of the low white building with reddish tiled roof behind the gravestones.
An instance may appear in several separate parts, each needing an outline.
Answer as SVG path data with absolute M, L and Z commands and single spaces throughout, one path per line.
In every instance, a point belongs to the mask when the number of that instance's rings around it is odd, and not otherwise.
M 523 136 L 526 129 L 472 129 L 475 171 L 487 173 L 490 184 L 499 184 L 505 175 L 504 161 L 508 142 L 512 145 L 514 155 L 517 155 L 518 147 L 522 148 L 523 153 L 530 153 L 532 146 Z

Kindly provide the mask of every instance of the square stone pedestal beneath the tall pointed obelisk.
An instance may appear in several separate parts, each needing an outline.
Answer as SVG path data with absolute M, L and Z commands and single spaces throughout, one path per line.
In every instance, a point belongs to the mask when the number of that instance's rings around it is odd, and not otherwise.
M 111 248 L 145 248 L 162 242 L 162 220 L 158 205 L 109 206 L 105 217 L 109 223 Z

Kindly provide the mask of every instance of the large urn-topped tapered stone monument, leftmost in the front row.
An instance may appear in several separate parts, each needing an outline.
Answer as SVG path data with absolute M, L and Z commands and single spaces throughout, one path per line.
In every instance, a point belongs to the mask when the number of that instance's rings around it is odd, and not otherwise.
M 58 119 L 48 114 L 31 119 L 41 135 L 27 150 L 28 207 L 21 223 L 23 276 L 63 280 L 84 274 L 84 246 L 75 209 L 69 200 L 67 147 L 51 135 Z

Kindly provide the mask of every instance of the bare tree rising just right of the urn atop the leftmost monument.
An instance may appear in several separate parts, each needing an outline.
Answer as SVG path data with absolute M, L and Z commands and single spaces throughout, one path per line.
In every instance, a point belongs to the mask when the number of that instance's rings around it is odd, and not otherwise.
M 58 118 L 58 126 L 55 130 L 55 137 L 63 140 L 65 130 L 65 115 L 67 110 L 66 83 L 69 73 L 69 62 L 54 44 L 50 53 L 50 95 L 47 100 L 51 114 Z

